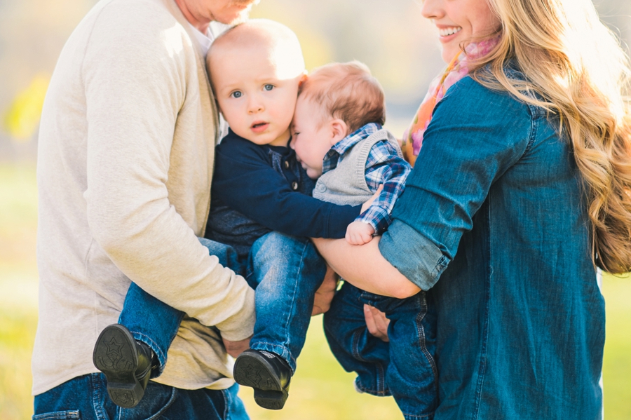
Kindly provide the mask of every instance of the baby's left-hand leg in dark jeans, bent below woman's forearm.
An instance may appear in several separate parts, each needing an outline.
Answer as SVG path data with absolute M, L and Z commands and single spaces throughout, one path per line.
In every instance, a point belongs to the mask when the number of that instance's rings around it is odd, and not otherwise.
M 327 341 L 346 372 L 357 373 L 355 388 L 372 395 L 390 395 L 386 370 L 389 345 L 368 332 L 362 290 L 344 283 L 324 315 Z

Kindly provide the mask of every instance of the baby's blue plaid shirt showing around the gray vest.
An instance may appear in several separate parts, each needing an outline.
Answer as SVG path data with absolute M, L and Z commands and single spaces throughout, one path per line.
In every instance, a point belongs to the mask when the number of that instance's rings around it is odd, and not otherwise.
M 358 142 L 381 130 L 381 125 L 369 123 L 337 142 L 324 157 L 322 173 L 337 167 L 344 160 L 344 154 Z M 412 170 L 409 163 L 400 158 L 395 147 L 387 140 L 374 144 L 366 161 L 366 183 L 373 193 L 384 186 L 379 197 L 355 220 L 367 223 L 379 235 L 388 228 L 392 219 L 390 214 L 395 201 L 405 189 L 405 179 Z

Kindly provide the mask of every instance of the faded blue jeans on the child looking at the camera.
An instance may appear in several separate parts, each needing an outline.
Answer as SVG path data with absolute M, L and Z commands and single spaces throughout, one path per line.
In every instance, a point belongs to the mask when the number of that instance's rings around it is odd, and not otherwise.
M 229 245 L 199 240 L 219 258 L 219 264 L 245 276 L 256 289 L 257 321 L 250 348 L 280 355 L 296 370 L 313 308 L 313 295 L 322 284 L 326 264 L 306 238 L 271 232 L 259 238 L 242 264 Z M 244 267 L 245 266 L 245 267 Z M 118 323 L 156 353 L 161 374 L 166 354 L 184 313 L 164 304 L 132 283 Z

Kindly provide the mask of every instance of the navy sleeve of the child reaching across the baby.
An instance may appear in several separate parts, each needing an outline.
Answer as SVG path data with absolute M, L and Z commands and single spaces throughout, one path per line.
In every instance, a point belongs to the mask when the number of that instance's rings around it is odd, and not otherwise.
M 220 144 L 215 154 L 213 196 L 273 231 L 344 238 L 361 206 L 335 205 L 293 191 L 261 153 L 247 140 Z

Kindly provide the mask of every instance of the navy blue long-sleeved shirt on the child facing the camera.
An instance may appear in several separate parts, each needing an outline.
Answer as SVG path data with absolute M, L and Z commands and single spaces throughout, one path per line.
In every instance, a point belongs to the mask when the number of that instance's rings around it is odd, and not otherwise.
M 231 245 L 239 257 L 270 231 L 310 238 L 344 238 L 361 206 L 311 197 L 315 180 L 289 147 L 259 145 L 232 130 L 215 149 L 205 237 Z

